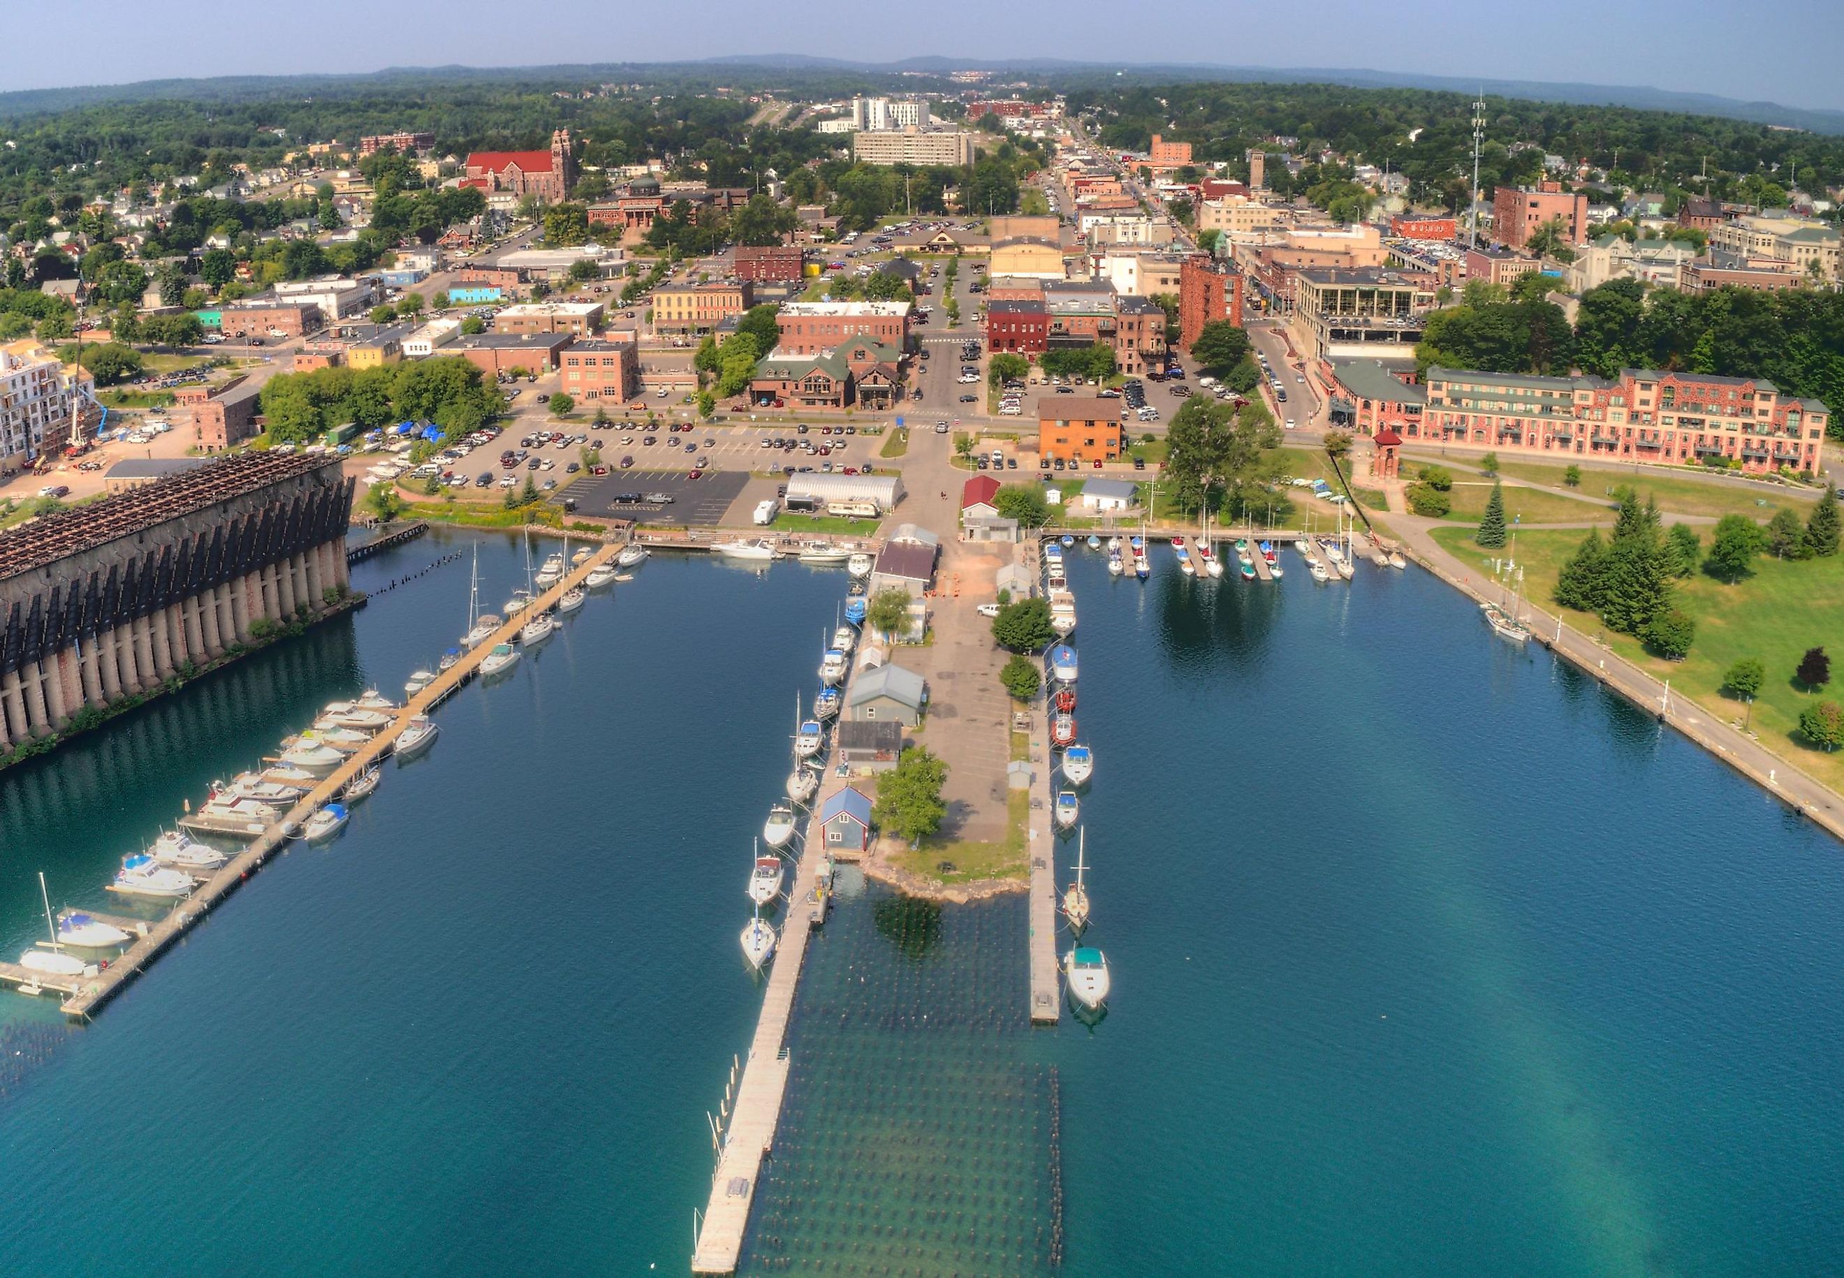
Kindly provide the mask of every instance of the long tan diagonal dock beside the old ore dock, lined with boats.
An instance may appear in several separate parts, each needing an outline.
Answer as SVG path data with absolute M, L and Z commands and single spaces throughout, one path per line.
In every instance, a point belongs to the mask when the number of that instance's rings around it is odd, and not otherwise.
M 135 941 L 118 959 L 114 959 L 107 968 L 96 976 L 85 977 L 52 977 L 46 979 L 42 972 L 31 972 L 18 964 L 0 964 L 0 981 L 11 981 L 13 985 L 24 985 L 28 988 L 37 987 L 44 990 L 57 990 L 66 994 L 63 1009 L 66 1016 L 87 1020 L 96 1012 L 98 1007 L 114 998 L 129 981 L 140 976 L 173 941 L 177 941 L 184 931 L 195 924 L 199 918 L 208 915 L 225 896 L 236 891 L 243 880 L 254 874 L 262 865 L 275 856 L 282 846 L 288 845 L 288 835 L 282 834 L 291 822 L 306 821 L 321 804 L 334 800 L 350 782 L 367 767 L 372 767 L 378 760 L 391 752 L 396 743 L 398 734 L 409 727 L 413 716 L 424 714 L 426 710 L 437 706 L 443 699 L 454 693 L 455 688 L 465 684 L 474 677 L 479 662 L 492 651 L 494 644 L 511 642 L 511 638 L 520 631 L 520 627 L 537 616 L 540 610 L 550 609 L 559 598 L 572 586 L 583 583 L 590 570 L 601 562 L 607 562 L 612 555 L 620 553 L 620 546 L 605 544 L 594 555 L 590 555 L 583 564 L 573 568 L 564 575 L 562 581 L 553 585 L 550 590 L 540 594 L 531 609 L 520 612 L 498 631 L 492 638 L 479 644 L 472 651 L 465 653 L 459 662 L 437 675 L 435 682 L 419 692 L 415 697 L 398 710 L 396 717 L 382 728 L 371 741 L 367 741 L 356 754 L 347 758 L 334 773 L 323 778 L 313 789 L 310 789 L 293 808 L 282 813 L 280 821 L 264 830 L 256 839 L 230 858 L 216 874 L 199 883 L 197 891 L 181 900 L 171 913 L 155 924 L 146 920 L 133 920 L 135 928 L 140 931 L 140 939 Z M 90 913 L 94 911 L 81 911 Z M 111 918 L 112 922 L 112 918 Z M 118 924 L 120 926 L 120 924 Z

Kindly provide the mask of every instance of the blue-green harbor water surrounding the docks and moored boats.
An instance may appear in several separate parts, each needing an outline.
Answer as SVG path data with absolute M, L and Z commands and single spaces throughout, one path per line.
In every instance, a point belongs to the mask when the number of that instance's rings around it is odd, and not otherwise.
M 0 775 L 7 948 L 35 870 L 122 913 L 183 799 L 433 668 L 470 544 Z M 1283 564 L 1070 557 L 1112 1007 L 1023 1025 L 1020 898 L 843 894 L 745 1272 L 1835 1271 L 1844 848 L 1433 577 Z M 684 1272 L 843 590 L 656 555 L 94 1025 L 0 998 L 0 1272 Z

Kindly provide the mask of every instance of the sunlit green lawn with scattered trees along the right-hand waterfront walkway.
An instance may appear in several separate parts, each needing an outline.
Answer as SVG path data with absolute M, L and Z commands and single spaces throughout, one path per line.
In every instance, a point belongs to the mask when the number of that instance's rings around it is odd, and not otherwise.
M 1538 605 L 1556 610 L 1551 592 L 1556 574 L 1575 553 L 1586 533 L 1569 529 L 1532 531 L 1518 537 L 1518 562 L 1523 566 L 1523 590 Z M 1472 540 L 1470 529 L 1442 527 L 1435 531 L 1446 550 L 1459 559 L 1490 572 L 1494 555 Z M 1704 535 L 1708 548 L 1709 537 Z M 1844 555 L 1809 559 L 1803 562 L 1755 561 L 1752 577 L 1730 586 L 1706 574 L 1678 583 L 1680 607 L 1696 618 L 1696 642 L 1682 662 L 1667 662 L 1647 655 L 1645 647 L 1625 634 L 1606 634 L 1614 651 L 1647 673 L 1671 680 L 1673 695 L 1685 695 L 1702 704 L 1711 717 L 1741 719 L 1743 706 L 1724 697 L 1719 688 L 1722 673 L 1743 657 L 1755 657 L 1767 666 L 1767 686 L 1754 704 L 1754 732 L 1763 745 L 1792 760 L 1802 769 L 1831 786 L 1844 789 L 1844 752 L 1826 754 L 1796 738 L 1800 710 L 1814 701 L 1792 684 L 1800 657 L 1814 644 L 1835 647 L 1844 657 Z M 1588 634 L 1601 634 L 1591 614 L 1567 612 L 1567 621 Z M 1844 682 L 1844 680 L 1840 680 Z M 1833 684 L 1816 699 L 1844 699 L 1844 688 Z

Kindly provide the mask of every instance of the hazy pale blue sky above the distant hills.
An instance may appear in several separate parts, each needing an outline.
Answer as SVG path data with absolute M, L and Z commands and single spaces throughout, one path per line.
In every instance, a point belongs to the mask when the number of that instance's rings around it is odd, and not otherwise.
M 815 53 L 1066 57 L 1320 66 L 1435 76 L 1650 85 L 1844 109 L 1838 0 L 89 0 L 72 57 L 9 57 L 0 90 L 384 66 L 537 66 Z M 7 30 L 42 0 L 0 0 Z M 1752 31 L 1748 28 L 1754 28 Z M 39 44 L 48 53 L 52 44 Z

